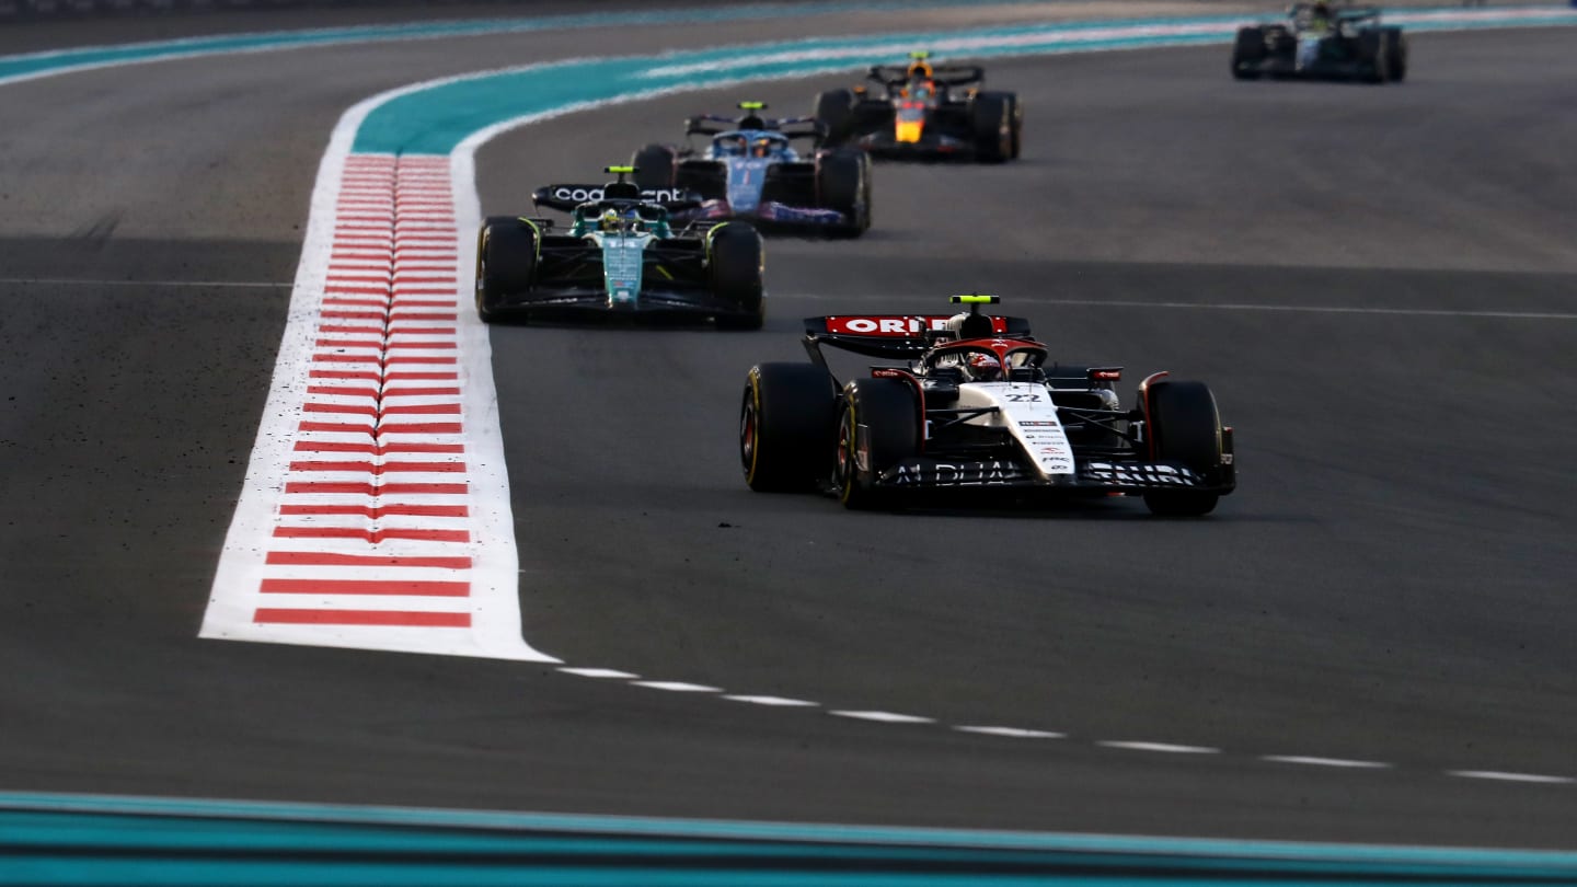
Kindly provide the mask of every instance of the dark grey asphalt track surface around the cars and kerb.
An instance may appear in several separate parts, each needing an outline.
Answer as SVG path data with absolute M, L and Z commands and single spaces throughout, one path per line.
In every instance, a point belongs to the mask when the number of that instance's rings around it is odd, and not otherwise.
M 197 641 L 333 122 L 585 46 L 6 87 L 0 789 L 1577 846 L 1577 786 L 1443 775 L 1577 775 L 1569 39 L 1419 38 L 1394 88 L 1235 84 L 1222 47 L 994 63 L 1030 109 L 1023 159 L 880 166 L 867 238 L 770 245 L 766 331 L 494 331 L 533 646 L 1063 740 Z M 744 93 L 796 110 L 831 82 Z M 744 93 L 500 137 L 484 210 Z M 738 388 L 800 355 L 798 317 L 965 289 L 1071 360 L 1210 380 L 1240 494 L 1153 521 L 1121 500 L 847 515 L 744 488 Z

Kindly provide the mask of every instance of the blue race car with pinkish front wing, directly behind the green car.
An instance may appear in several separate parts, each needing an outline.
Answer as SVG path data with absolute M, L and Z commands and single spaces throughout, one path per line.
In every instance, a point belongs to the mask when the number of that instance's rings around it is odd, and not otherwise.
M 651 144 L 631 164 L 642 188 L 694 191 L 702 204 L 688 218 L 747 219 L 762 230 L 859 237 L 871 227 L 871 159 L 855 150 L 823 150 L 822 129 L 807 117 L 768 118 L 765 103 L 741 101 L 738 118 L 700 115 L 684 122 L 684 145 Z M 689 139 L 708 136 L 705 147 Z M 809 139 L 809 156 L 793 142 Z

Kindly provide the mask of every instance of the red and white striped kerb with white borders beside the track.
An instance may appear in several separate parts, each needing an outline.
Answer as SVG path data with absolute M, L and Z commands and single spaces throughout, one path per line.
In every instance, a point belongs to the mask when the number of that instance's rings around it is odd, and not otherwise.
M 350 155 L 333 200 L 326 264 L 314 275 L 303 260 L 292 303 L 293 314 L 315 308 L 290 320 L 311 341 L 292 360 L 287 330 L 270 401 L 293 414 L 263 421 L 263 437 L 273 423 L 289 447 L 259 440 L 202 634 L 546 658 L 519 639 L 508 603 L 513 543 L 509 582 L 492 601 L 473 593 L 483 540 L 464 391 L 473 376 L 460 358 L 472 281 L 449 158 Z M 322 281 L 306 306 L 303 279 Z M 246 526 L 248 515 L 267 524 Z M 489 617 L 505 622 L 501 644 L 475 631 Z

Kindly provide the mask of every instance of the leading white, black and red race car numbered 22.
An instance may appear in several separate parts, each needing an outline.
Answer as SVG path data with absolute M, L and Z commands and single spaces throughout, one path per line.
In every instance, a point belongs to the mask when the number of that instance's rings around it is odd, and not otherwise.
M 1022 317 L 806 319 L 811 363 L 751 368 L 740 458 L 755 491 L 823 489 L 850 508 L 943 491 L 1137 494 L 1205 515 L 1233 491 L 1232 429 L 1202 382 L 1154 372 L 1124 409 L 1121 368 L 1050 363 Z M 904 361 L 839 384 L 823 346 Z

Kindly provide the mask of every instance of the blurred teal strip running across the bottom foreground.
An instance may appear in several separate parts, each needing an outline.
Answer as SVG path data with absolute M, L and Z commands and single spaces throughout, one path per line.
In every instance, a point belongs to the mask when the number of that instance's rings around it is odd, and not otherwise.
M 0 794 L 0 811 L 80 816 L 202 818 L 237 822 L 293 822 L 401 829 L 467 829 L 481 832 L 549 832 L 620 838 L 770 841 L 815 844 L 880 844 L 891 848 L 1035 851 L 1079 854 L 1137 854 L 1258 862 L 1342 865 L 1468 866 L 1481 874 L 1533 874 L 1577 882 L 1577 852 L 1508 851 L 1487 848 L 1416 848 L 1381 844 L 1320 844 L 1217 838 L 1161 838 L 970 829 L 907 829 L 822 825 L 798 822 L 743 822 L 659 819 L 557 813 L 429 810 L 241 800 L 115 797 L 71 794 Z M 9 835 L 9 829 L 3 832 Z M 5 841 L 9 838 L 0 838 Z M 5 844 L 0 843 L 0 848 Z

